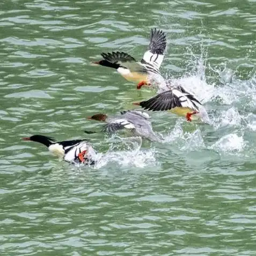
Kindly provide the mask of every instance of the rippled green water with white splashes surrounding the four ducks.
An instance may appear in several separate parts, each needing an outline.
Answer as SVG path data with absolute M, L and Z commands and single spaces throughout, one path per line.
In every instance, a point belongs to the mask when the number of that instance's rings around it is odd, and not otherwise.
M 256 255 L 255 4 L 2 1 L 0 255 Z M 153 27 L 163 75 L 211 125 L 149 113 L 165 143 L 84 134 L 101 127 L 86 116 L 153 95 L 90 65 L 112 50 L 140 60 Z M 58 162 L 21 141 L 33 134 L 90 137 L 101 162 Z

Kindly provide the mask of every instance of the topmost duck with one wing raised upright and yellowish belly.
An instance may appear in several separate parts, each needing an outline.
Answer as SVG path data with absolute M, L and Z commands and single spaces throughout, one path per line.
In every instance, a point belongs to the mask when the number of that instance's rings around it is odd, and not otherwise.
M 112 52 L 101 53 L 104 59 L 93 63 L 116 69 L 128 81 L 136 82 L 138 84 L 137 89 L 140 89 L 143 85 L 164 81 L 159 68 L 164 59 L 165 48 L 165 33 L 155 28 L 151 30 L 148 50 L 144 53 L 141 62 L 137 62 L 134 57 L 127 53 Z

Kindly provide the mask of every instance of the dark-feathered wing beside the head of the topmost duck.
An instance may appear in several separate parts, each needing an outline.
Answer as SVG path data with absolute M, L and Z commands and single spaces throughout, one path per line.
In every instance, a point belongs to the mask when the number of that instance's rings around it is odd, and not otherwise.
M 136 62 L 135 58 L 130 56 L 127 53 L 123 52 L 112 52 L 112 53 L 101 53 L 101 56 L 103 56 L 104 60 L 119 64 L 122 68 L 127 68 L 131 72 L 133 71 L 144 71 L 144 67 L 140 65 L 138 62 Z

